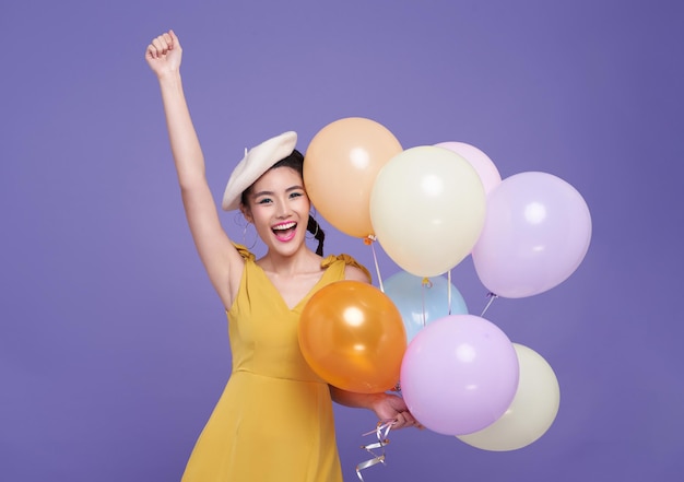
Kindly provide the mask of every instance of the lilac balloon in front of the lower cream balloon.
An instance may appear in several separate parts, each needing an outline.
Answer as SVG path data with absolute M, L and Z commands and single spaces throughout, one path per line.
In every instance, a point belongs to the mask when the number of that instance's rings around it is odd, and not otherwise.
M 516 350 L 496 325 L 474 315 L 449 315 L 411 341 L 400 380 L 421 424 L 444 435 L 465 435 L 506 412 L 518 376 Z

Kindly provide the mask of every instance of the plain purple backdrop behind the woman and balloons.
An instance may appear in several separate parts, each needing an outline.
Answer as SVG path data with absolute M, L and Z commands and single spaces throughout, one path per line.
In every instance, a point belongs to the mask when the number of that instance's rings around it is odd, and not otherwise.
M 367 482 L 681 480 L 683 10 L 674 0 L 3 2 L 0 479 L 178 480 L 228 376 L 225 315 L 193 250 L 143 60 L 174 27 L 217 200 L 246 146 L 294 129 L 306 149 L 328 122 L 361 116 L 404 148 L 462 141 L 504 177 L 554 174 L 589 205 L 579 269 L 487 313 L 556 372 L 551 430 L 509 452 L 391 433 L 388 465 Z M 240 240 L 235 215 L 223 221 Z M 328 233 L 327 252 L 373 268 L 370 248 Z M 398 270 L 376 252 L 384 278 Z M 471 260 L 452 274 L 479 314 L 486 289 Z M 335 413 L 345 479 L 356 480 L 375 419 Z

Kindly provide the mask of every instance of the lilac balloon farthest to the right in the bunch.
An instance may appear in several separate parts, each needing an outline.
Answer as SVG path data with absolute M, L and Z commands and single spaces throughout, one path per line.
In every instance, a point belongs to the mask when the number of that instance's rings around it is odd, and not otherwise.
M 581 195 L 552 174 L 504 179 L 487 195 L 485 225 L 472 257 L 482 284 L 508 298 L 561 284 L 589 249 L 591 215 Z

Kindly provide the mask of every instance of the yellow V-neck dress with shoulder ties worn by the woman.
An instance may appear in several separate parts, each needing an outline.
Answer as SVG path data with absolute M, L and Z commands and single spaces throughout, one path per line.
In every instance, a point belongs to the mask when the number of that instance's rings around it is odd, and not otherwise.
M 227 311 L 233 372 L 182 482 L 341 482 L 330 390 L 304 360 L 297 325 L 346 264 L 365 268 L 346 255 L 325 258 L 321 279 L 290 309 L 253 255 L 238 249 L 245 271 Z

